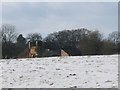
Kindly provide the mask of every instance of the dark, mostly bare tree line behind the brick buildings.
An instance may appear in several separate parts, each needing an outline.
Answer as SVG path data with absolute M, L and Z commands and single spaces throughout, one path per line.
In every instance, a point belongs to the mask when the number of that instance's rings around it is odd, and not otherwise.
M 24 37 L 16 32 L 16 28 L 11 24 L 4 24 L 0 30 L 2 38 L 3 58 L 17 57 L 28 47 L 28 42 L 41 41 L 42 46 L 38 49 L 39 53 L 43 49 L 63 49 L 71 52 L 71 55 L 110 55 L 120 53 L 120 33 L 111 32 L 104 38 L 98 30 L 88 30 L 85 28 L 63 30 L 48 34 L 42 38 L 40 33 L 29 33 Z

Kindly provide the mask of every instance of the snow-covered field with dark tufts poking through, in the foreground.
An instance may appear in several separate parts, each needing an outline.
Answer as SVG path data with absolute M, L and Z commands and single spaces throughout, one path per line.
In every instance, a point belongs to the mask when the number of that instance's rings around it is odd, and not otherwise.
M 0 60 L 2 88 L 118 88 L 118 55 Z

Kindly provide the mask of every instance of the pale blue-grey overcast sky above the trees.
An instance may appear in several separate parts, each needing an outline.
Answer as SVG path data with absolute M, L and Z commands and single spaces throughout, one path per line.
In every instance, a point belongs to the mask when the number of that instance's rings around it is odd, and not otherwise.
M 13 24 L 26 35 L 39 32 L 45 37 L 54 31 L 87 28 L 107 35 L 118 30 L 117 2 L 6 2 L 2 23 Z

